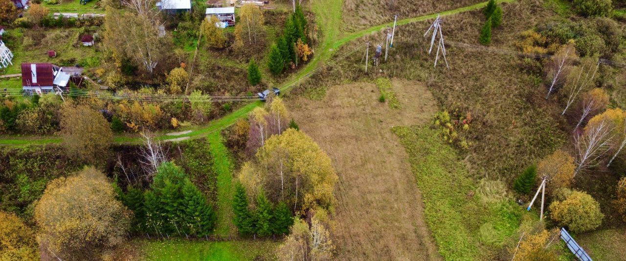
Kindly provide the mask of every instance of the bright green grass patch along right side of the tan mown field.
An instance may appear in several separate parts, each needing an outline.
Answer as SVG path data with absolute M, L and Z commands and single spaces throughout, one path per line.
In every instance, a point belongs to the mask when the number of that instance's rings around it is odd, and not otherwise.
M 478 182 L 437 130 L 394 127 L 393 131 L 409 154 L 424 198 L 426 223 L 444 259 L 493 260 L 501 248 L 516 243 L 522 220 L 537 219 L 505 191 L 488 197 L 497 202 L 484 203 Z

